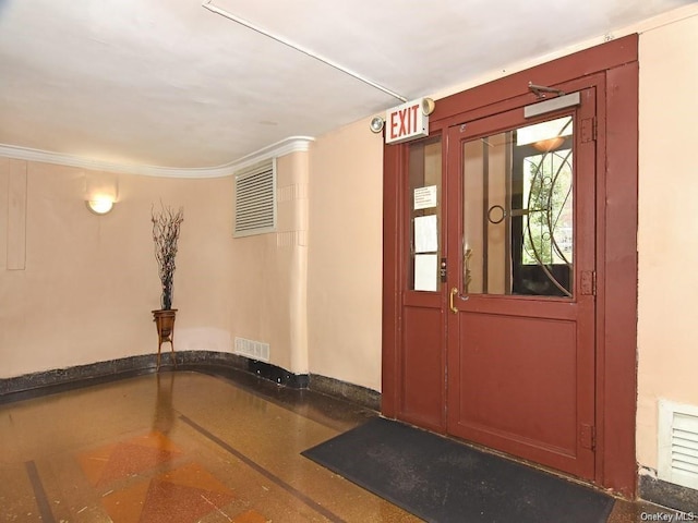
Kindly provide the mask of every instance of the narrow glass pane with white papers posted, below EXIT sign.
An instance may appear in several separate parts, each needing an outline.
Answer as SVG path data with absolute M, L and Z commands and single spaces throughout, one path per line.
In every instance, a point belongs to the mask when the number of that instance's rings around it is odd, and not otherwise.
M 441 290 L 441 136 L 409 146 L 408 289 Z

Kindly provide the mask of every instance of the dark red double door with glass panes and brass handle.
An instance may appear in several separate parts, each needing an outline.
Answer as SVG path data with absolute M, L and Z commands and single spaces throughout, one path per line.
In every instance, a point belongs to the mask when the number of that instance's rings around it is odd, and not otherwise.
M 402 146 L 384 365 L 396 417 L 593 479 L 595 88 L 558 100 Z

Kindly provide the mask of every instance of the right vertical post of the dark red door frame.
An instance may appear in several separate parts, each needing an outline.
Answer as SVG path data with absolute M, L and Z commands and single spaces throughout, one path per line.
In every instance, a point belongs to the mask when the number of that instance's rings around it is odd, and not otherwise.
M 636 492 L 638 63 L 607 72 L 602 485 Z

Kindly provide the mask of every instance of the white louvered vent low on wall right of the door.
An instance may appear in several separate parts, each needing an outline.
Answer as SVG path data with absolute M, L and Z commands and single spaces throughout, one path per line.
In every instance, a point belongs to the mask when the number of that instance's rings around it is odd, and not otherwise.
M 698 489 L 698 406 L 660 401 L 659 478 Z

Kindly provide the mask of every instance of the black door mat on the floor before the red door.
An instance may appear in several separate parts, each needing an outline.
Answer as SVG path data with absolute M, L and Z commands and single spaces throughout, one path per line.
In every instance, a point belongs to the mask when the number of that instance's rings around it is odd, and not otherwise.
M 384 418 L 302 454 L 429 522 L 603 523 L 613 509 L 592 488 Z

